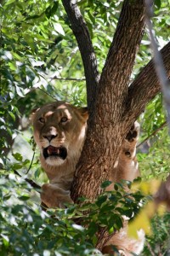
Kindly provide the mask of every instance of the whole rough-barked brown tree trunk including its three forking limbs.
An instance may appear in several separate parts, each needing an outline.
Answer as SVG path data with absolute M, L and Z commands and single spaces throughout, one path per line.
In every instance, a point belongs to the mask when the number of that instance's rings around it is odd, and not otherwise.
M 152 61 L 128 87 L 135 55 L 144 33 L 144 1 L 124 0 L 105 67 L 99 79 L 94 49 L 88 26 L 82 19 L 76 0 L 62 0 L 71 20 L 82 55 L 87 81 L 88 132 L 72 183 L 71 198 L 85 196 L 94 200 L 100 185 L 112 172 L 122 140 L 133 122 L 160 90 Z M 170 44 L 161 53 L 170 75 Z M 98 234 L 101 249 L 111 236 L 105 230 Z

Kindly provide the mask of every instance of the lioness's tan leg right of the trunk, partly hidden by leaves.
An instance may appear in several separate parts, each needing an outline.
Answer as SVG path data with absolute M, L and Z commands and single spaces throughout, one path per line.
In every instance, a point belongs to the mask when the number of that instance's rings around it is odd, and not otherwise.
M 139 123 L 135 122 L 122 143 L 120 154 L 111 175 L 111 181 L 120 182 L 122 179 L 133 181 L 135 177 L 139 176 L 139 166 L 136 159 L 136 145 L 138 140 Z M 112 189 L 114 189 L 113 183 L 107 190 Z M 123 228 L 116 232 L 111 237 L 111 240 L 106 243 L 103 253 L 118 255 L 111 245 L 117 248 L 119 255 L 130 256 L 133 255 L 132 253 L 141 253 L 144 247 L 144 231 L 139 230 L 138 236 L 138 239 L 127 236 L 127 220 L 125 220 Z

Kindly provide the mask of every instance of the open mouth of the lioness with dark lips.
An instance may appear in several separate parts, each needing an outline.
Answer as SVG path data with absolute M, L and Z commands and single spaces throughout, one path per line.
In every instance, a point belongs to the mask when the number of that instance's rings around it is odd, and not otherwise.
M 67 156 L 67 150 L 65 147 L 55 148 L 53 146 L 48 146 L 47 148 L 43 149 L 43 156 L 45 159 L 47 159 L 49 156 L 54 156 L 65 160 Z

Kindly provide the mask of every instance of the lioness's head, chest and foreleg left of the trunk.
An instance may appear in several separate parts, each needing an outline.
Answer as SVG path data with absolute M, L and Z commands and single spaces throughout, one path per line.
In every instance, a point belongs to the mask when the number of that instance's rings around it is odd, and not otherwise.
M 49 183 L 42 186 L 41 195 L 47 207 L 63 207 L 65 202 L 71 202 L 71 182 L 82 152 L 87 119 L 86 108 L 77 109 L 65 102 L 52 102 L 32 113 L 34 139 L 49 179 Z M 57 148 L 61 147 L 66 150 L 65 159 L 57 155 Z M 44 153 L 45 148 L 48 149 Z M 48 157 L 47 150 L 51 153 Z

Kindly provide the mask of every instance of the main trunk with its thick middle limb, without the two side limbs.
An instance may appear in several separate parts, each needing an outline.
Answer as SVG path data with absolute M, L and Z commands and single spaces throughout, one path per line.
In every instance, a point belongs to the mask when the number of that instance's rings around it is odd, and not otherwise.
M 129 78 L 143 32 L 143 1 L 124 1 L 97 88 L 94 111 L 88 119 L 87 140 L 71 190 L 74 201 L 82 195 L 91 199 L 99 195 L 100 184 L 110 176 L 122 139 L 132 125 L 132 121 L 125 124 L 122 113 L 125 113 Z

